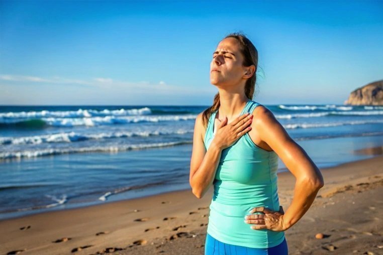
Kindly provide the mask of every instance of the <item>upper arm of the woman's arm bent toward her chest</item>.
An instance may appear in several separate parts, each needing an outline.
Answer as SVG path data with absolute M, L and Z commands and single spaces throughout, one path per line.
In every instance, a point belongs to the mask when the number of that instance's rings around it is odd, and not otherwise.
M 206 148 L 203 141 L 203 134 L 205 133 L 205 127 L 202 122 L 202 112 L 197 115 L 194 125 L 193 135 L 193 150 L 192 159 L 190 159 L 190 175 L 189 182 L 192 180 L 193 175 L 197 172 L 198 168 L 206 154 Z

